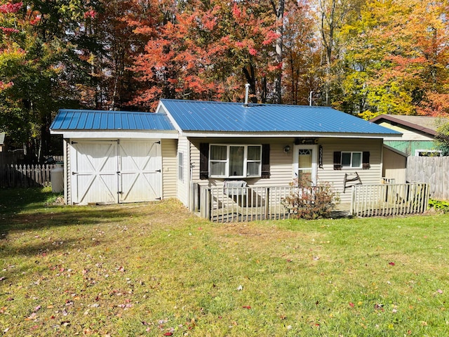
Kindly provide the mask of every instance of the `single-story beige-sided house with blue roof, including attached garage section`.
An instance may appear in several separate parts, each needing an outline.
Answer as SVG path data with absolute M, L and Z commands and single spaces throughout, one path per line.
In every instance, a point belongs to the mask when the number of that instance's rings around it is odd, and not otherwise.
M 351 183 L 380 183 L 383 139 L 401 137 L 330 107 L 166 99 L 155 113 L 60 110 L 51 132 L 64 138 L 68 204 L 176 197 L 190 209 L 200 186 L 302 176 L 349 202 Z

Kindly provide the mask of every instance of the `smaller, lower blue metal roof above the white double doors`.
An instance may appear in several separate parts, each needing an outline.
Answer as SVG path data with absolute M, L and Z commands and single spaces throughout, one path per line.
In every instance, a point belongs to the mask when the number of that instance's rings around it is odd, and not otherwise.
M 61 109 L 52 130 L 157 130 L 174 131 L 166 114 L 130 111 Z

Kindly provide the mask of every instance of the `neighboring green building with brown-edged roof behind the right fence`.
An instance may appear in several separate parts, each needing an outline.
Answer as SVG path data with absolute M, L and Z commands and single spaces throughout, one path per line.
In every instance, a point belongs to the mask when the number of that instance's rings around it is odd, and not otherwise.
M 449 119 L 428 116 L 408 116 L 399 114 L 381 114 L 373 123 L 391 128 L 403 134 L 402 138 L 384 138 L 384 144 L 408 156 L 439 155 L 435 148 L 435 136 L 438 126 L 448 123 Z

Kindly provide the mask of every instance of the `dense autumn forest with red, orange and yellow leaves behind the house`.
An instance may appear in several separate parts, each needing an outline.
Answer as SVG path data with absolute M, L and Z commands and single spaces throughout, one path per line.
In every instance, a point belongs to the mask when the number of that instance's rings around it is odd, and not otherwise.
M 0 132 L 39 160 L 60 108 L 160 98 L 449 113 L 448 1 L 0 0 Z

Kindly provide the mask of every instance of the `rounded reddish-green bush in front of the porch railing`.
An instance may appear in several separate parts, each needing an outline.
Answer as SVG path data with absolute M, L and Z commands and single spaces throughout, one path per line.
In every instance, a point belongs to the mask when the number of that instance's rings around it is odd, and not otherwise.
M 330 218 L 335 204 L 339 201 L 337 193 L 328 182 L 312 185 L 308 178 L 295 179 L 290 183 L 290 195 L 282 200 L 293 218 Z

